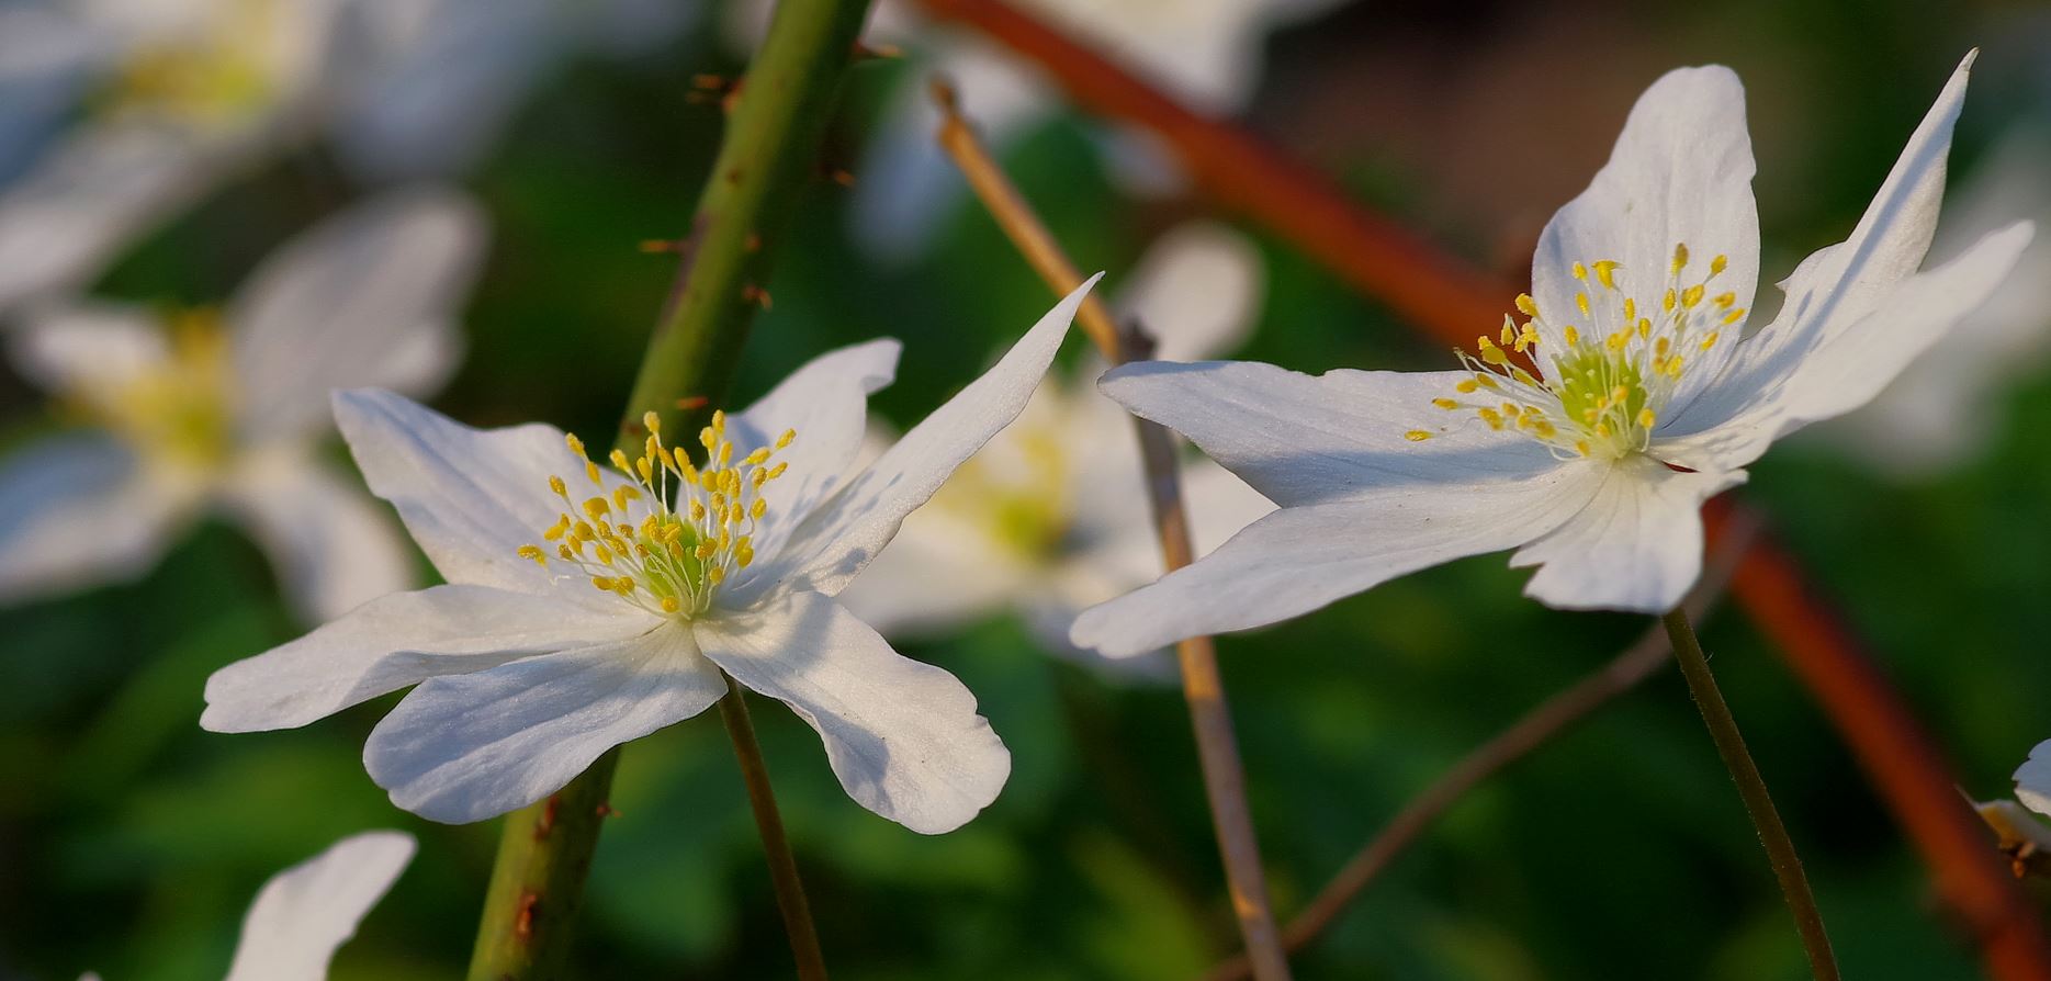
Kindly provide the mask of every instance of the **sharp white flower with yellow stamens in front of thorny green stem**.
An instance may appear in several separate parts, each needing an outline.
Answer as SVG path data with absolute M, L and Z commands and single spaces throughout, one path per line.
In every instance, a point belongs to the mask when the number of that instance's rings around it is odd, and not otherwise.
M 478 431 L 388 392 L 336 394 L 371 490 L 449 585 L 217 671 L 201 724 L 299 727 L 416 685 L 363 763 L 398 807 L 457 823 L 556 792 L 613 745 L 703 712 L 730 677 L 810 722 L 861 807 L 952 831 L 997 798 L 1009 751 L 954 675 L 833 597 L 1017 417 L 1085 289 L 868 468 L 851 464 L 896 341 L 814 359 L 716 415 L 697 447 L 648 425 L 644 454 L 613 454 L 613 470 L 548 425 Z

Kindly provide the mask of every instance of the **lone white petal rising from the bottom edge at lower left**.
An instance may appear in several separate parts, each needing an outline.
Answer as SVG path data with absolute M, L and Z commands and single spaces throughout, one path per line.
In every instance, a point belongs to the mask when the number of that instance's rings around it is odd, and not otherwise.
M 256 893 L 228 981 L 322 981 L 334 948 L 412 862 L 412 835 L 367 831 L 291 866 Z

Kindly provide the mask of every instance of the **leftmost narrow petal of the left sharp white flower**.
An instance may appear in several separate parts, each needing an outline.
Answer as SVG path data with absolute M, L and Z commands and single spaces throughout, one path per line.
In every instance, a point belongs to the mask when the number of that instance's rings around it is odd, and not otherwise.
M 593 612 L 546 595 L 474 585 L 394 593 L 289 644 L 207 679 L 201 729 L 260 733 L 304 727 L 439 675 L 484 671 L 529 655 L 601 644 L 648 630 L 617 603 Z

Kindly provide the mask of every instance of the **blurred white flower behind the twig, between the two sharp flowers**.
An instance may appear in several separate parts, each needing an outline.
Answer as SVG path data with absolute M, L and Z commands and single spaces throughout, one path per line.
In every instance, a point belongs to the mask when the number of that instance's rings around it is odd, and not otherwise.
M 1147 324 L 1161 339 L 1157 355 L 1183 361 L 1237 347 L 1257 306 L 1259 257 L 1245 238 L 1190 224 L 1134 269 L 1120 320 Z M 1069 644 L 1083 607 L 1161 577 L 1132 419 L 1095 392 L 1101 369 L 1093 359 L 1079 378 L 1040 386 L 841 601 L 890 638 L 1013 607 L 1050 653 L 1171 679 L 1165 659 L 1110 663 Z M 1198 552 L 1274 509 L 1210 460 L 1188 462 L 1181 480 Z

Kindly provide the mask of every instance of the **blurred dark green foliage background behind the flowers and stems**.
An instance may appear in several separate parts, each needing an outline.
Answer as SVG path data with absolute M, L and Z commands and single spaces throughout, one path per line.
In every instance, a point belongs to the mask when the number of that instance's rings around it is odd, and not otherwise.
M 1350 84 L 1348 66 L 1438 45 L 1427 78 L 1522 51 L 1512 4 L 1356 4 L 1270 45 L 1251 125 L 1304 148 L 1362 199 L 1450 248 L 1491 259 L 1514 215 L 1448 222 L 1434 172 L 1401 133 L 1282 111 Z M 1628 39 L 1628 84 L 1587 96 L 1594 146 L 1503 148 L 1503 168 L 1553 166 L 1571 195 L 1622 107 L 1659 70 L 1727 62 L 1752 84 L 1766 279 L 1842 238 L 1901 140 L 1973 43 L 1989 47 L 1961 123 L 1955 174 L 2018 113 L 2043 113 L 2045 41 L 2022 10 L 1985 4 L 1741 0 L 1661 10 L 1579 4 L 1544 16 Z M 710 21 L 710 18 L 708 18 Z M 2006 25 L 2006 27 L 1996 27 Z M 2030 55 L 2030 51 L 2037 51 Z M 472 181 L 494 224 L 468 314 L 472 355 L 437 404 L 476 425 L 546 419 L 587 433 L 619 413 L 718 140 L 691 76 L 738 66 L 701 27 L 644 64 L 578 62 L 548 78 Z M 1618 72 L 1604 74 L 1610 78 Z M 855 74 L 829 154 L 853 164 L 904 66 Z M 1341 99 L 1343 101 L 1343 92 Z M 1421 113 L 1430 115 L 1432 107 Z M 1173 218 L 1105 179 L 1097 123 L 1034 131 L 1007 164 L 1077 259 L 1112 281 Z M 1317 148 L 1345 146 L 1343 154 Z M 1469 164 L 1475 164 L 1469 160 Z M 1483 162 L 1487 164 L 1487 160 Z M 1577 174 L 1577 176 L 1575 176 Z M 2047 174 L 2051 179 L 2051 174 Z M 275 242 L 355 191 L 322 150 L 234 183 L 129 254 L 103 293 L 217 302 Z M 907 341 L 880 415 L 937 404 L 1050 298 L 972 209 L 909 269 L 845 234 L 845 193 L 804 203 L 749 343 L 738 392 L 765 390 L 851 341 Z M 1544 209 L 1557 205 L 1542 203 Z M 1542 220 L 1542 211 L 1540 211 Z M 1257 232 L 1255 232 L 1257 234 Z M 1376 304 L 1261 238 L 1270 287 L 1245 357 L 1298 369 L 1438 367 Z M 1503 298 L 1507 308 L 1510 298 Z M 2051 312 L 2047 312 L 2051 318 Z M 1491 324 L 1477 324 L 1481 328 Z M 1079 347 L 1079 345 L 1077 345 Z M 12 431 L 49 417 L 21 382 Z M 1971 466 L 1891 484 L 1803 441 L 1745 495 L 1776 519 L 1922 712 L 1977 796 L 2051 737 L 2051 380 L 2002 396 Z M 4 560 L 4 556 L 0 556 Z M 336 979 L 457 977 L 496 825 L 441 827 L 392 809 L 365 778 L 386 698 L 299 731 L 197 729 L 205 675 L 304 630 L 263 556 L 207 525 L 137 579 L 0 612 L 0 979 L 207 979 L 224 973 L 256 887 L 332 839 L 404 827 L 420 858 L 336 960 Z M 429 575 L 423 562 L 423 575 Z M 1501 556 L 1456 562 L 1317 616 L 1220 642 L 1278 903 L 1294 911 L 1417 788 L 1518 712 L 1606 661 L 1643 628 L 1520 597 Z M 1706 624 L 1725 692 L 1803 846 L 1848 977 L 1975 977 L 1934 911 L 1928 874 L 1815 704 L 1739 614 Z M 761 704 L 765 751 L 829 960 L 841 979 L 1188 979 L 1233 946 L 1181 700 L 1116 688 L 1040 655 L 995 620 L 904 653 L 956 671 L 1013 751 L 1005 794 L 946 837 L 890 825 L 835 786 L 816 737 Z M 578 950 L 585 977 L 788 973 L 769 882 L 724 735 L 695 718 L 636 743 L 601 843 Z M 2043 897 L 2039 897 L 2043 899 Z M 1300 958 L 1313 979 L 1754 981 L 1803 977 L 1766 862 L 1680 679 L 1663 673 L 1460 802 Z

